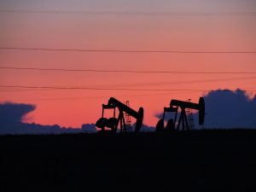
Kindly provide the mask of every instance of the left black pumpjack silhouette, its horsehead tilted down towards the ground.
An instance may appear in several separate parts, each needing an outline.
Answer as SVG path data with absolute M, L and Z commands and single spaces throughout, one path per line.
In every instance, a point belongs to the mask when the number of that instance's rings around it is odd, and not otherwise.
M 116 119 L 115 113 L 116 108 L 119 109 L 119 116 Z M 113 117 L 112 118 L 104 118 L 104 110 L 105 109 L 113 109 Z M 118 129 L 118 126 L 120 128 L 120 132 L 127 132 L 127 127 L 125 124 L 125 116 L 124 113 L 130 114 L 131 117 L 137 119 L 136 126 L 135 126 L 135 132 L 139 132 L 142 125 L 143 125 L 143 108 L 139 108 L 138 112 L 133 110 L 132 108 L 126 106 L 124 103 L 119 102 L 115 98 L 111 97 L 108 100 L 108 104 L 102 105 L 102 118 L 98 119 L 96 122 L 96 126 L 101 128 L 102 131 L 106 131 L 106 127 L 111 129 L 111 131 L 116 132 Z

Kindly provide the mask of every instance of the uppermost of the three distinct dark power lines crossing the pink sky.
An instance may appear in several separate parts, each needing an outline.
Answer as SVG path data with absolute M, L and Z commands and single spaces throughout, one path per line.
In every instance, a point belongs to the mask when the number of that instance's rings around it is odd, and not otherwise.
M 185 50 L 144 50 L 144 49 L 49 49 L 49 48 L 22 48 L 0 47 L 13 50 L 40 50 L 40 51 L 73 51 L 73 52 L 113 52 L 113 53 L 162 53 L 162 54 L 256 54 L 256 51 L 185 51 Z

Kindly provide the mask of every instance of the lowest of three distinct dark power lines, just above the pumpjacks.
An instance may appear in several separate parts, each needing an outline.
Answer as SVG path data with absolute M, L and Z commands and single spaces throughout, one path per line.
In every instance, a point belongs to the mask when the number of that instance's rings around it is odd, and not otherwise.
M 61 86 L 24 86 L 24 85 L 0 85 L 2 88 L 24 88 L 24 89 L 53 89 L 53 90 L 132 90 L 132 91 L 212 91 L 193 89 L 126 89 L 126 88 L 93 88 L 93 87 L 61 87 Z M 236 91 L 236 90 L 214 90 L 214 91 Z M 256 90 L 245 90 L 256 91 Z

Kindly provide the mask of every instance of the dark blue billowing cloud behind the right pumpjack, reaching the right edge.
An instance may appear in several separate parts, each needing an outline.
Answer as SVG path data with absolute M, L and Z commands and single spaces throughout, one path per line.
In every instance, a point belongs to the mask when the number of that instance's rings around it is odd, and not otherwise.
M 206 128 L 256 128 L 256 96 L 250 99 L 244 90 L 214 90 L 204 98 Z M 161 118 L 162 113 L 156 117 Z M 198 127 L 198 113 L 194 119 Z

